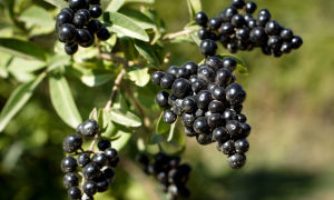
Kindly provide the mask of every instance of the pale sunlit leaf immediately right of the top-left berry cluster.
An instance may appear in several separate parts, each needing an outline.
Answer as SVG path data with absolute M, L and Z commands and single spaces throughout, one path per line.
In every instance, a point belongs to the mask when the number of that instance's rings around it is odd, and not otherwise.
M 136 24 L 130 18 L 118 12 L 108 12 L 111 27 L 109 28 L 112 32 L 119 36 L 127 36 L 136 38 L 143 41 L 149 41 L 149 37 L 146 31 Z

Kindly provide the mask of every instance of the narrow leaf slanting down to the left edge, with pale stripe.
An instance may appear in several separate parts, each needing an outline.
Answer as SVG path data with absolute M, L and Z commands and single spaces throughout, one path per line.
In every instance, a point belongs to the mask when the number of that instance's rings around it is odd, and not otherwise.
M 10 96 L 0 114 L 0 132 L 3 131 L 8 122 L 21 110 L 21 108 L 31 98 L 35 89 L 45 79 L 46 74 L 41 73 L 35 80 L 21 84 Z

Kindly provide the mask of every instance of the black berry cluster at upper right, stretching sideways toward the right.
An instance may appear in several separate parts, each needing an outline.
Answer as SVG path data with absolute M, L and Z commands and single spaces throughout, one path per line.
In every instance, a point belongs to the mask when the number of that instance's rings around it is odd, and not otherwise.
M 294 36 L 291 29 L 272 20 L 267 9 L 259 10 L 257 18 L 254 18 L 256 9 L 253 1 L 232 0 L 232 6 L 218 17 L 208 19 L 205 12 L 198 12 L 195 20 L 202 27 L 198 31 L 199 39 L 220 41 L 232 53 L 259 47 L 263 53 L 274 57 L 289 53 L 303 44 L 301 37 Z

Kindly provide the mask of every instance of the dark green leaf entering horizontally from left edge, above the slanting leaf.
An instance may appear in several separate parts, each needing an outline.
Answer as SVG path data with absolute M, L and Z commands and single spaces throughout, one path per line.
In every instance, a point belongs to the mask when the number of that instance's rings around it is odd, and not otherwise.
M 9 52 L 26 59 L 46 60 L 46 51 L 32 42 L 0 38 L 0 51 Z

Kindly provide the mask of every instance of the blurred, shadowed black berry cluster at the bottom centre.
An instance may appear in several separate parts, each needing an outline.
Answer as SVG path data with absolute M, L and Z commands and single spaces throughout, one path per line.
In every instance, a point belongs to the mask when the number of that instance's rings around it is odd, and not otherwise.
M 139 154 L 137 160 L 143 164 L 145 173 L 154 176 L 161 183 L 168 199 L 176 200 L 179 197 L 188 198 L 190 196 L 186 182 L 189 179 L 191 168 L 187 163 L 180 164 L 179 157 L 170 157 L 159 152 L 154 157 L 151 163 L 145 154 Z

